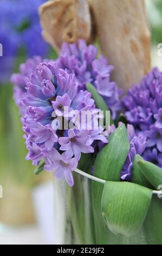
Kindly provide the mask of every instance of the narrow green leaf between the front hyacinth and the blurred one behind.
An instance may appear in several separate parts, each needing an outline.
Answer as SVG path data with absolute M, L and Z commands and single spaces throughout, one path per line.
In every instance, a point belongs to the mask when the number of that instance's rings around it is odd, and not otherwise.
M 97 108 L 100 108 L 102 111 L 104 111 L 104 123 L 106 123 L 106 111 L 109 111 L 105 100 L 103 100 L 103 97 L 98 93 L 96 88 L 91 83 L 86 84 L 87 90 L 91 93 L 93 99 L 95 100 L 95 106 Z M 114 124 L 114 121 L 112 119 L 112 116 L 110 114 L 110 124 Z

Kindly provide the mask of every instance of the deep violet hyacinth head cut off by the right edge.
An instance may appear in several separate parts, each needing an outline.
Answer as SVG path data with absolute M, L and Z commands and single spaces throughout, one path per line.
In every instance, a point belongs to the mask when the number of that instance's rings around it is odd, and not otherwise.
M 148 72 L 139 85 L 129 89 L 122 105 L 128 123 L 146 136 L 147 150 L 143 157 L 151 159 L 152 152 L 153 162 L 162 167 L 162 72 L 158 68 Z

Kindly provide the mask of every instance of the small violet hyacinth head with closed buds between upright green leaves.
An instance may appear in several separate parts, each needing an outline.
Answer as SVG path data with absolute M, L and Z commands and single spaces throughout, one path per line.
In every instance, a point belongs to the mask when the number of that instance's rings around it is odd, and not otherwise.
M 121 123 L 119 123 L 119 126 Z M 111 133 L 115 130 L 115 126 L 111 126 Z M 124 163 L 124 166 L 121 170 L 120 178 L 123 181 L 131 181 L 132 180 L 132 167 L 134 157 L 139 154 L 142 155 L 146 148 L 146 137 L 142 134 L 135 135 L 133 125 L 127 125 L 127 135 L 130 143 L 130 148 L 128 152 L 127 159 Z

